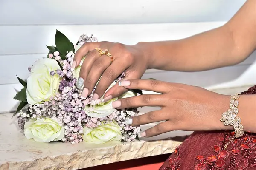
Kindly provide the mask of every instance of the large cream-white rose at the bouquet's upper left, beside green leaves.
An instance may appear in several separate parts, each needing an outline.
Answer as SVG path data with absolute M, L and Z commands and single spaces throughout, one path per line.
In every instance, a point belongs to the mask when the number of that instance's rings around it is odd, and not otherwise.
M 27 79 L 26 97 L 30 105 L 48 101 L 58 90 L 61 77 L 50 75 L 51 71 L 61 69 L 54 59 L 40 59 L 31 68 Z

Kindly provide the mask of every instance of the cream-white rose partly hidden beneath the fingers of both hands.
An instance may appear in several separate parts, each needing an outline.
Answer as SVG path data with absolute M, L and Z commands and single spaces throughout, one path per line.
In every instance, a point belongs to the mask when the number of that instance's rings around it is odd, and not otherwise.
M 107 89 L 107 91 L 113 87 L 114 85 L 116 85 L 116 82 L 113 82 L 109 88 Z M 106 92 L 107 92 L 106 91 Z M 105 92 L 105 93 L 106 93 Z M 103 95 L 104 96 L 104 95 Z M 102 98 L 100 99 L 102 101 L 103 99 L 103 96 Z M 127 97 L 133 97 L 135 96 L 135 94 L 132 92 L 132 91 L 128 91 L 126 92 L 125 94 L 123 94 L 122 96 L 120 96 L 119 98 L 113 98 L 111 100 L 109 100 L 108 102 L 101 102 L 99 105 L 95 105 L 94 108 L 93 108 L 93 111 L 90 110 L 91 105 L 86 105 L 85 108 L 84 108 L 84 111 L 85 113 L 90 116 L 90 117 L 96 117 L 96 118 L 100 118 L 100 117 L 106 117 L 106 116 L 109 116 L 111 115 L 111 113 L 113 113 L 113 111 L 115 111 L 115 108 L 111 108 L 111 102 L 114 102 L 116 101 L 117 99 L 123 99 L 123 98 L 127 98 Z

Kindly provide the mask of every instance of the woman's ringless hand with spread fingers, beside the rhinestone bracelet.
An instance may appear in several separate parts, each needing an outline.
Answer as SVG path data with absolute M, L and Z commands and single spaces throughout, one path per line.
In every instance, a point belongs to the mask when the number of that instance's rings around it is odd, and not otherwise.
M 140 95 L 119 99 L 113 108 L 136 108 L 159 106 L 151 111 L 125 121 L 129 125 L 144 125 L 161 122 L 145 130 L 140 136 L 156 136 L 172 130 L 223 130 L 232 129 L 220 121 L 221 115 L 229 108 L 230 96 L 217 94 L 191 85 L 161 82 L 157 80 L 126 80 L 119 82 L 128 89 L 155 91 L 160 94 Z

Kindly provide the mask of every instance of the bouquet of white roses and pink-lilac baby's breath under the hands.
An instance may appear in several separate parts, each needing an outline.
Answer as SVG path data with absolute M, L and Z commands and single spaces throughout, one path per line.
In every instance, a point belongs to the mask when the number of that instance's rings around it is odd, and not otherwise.
M 55 34 L 55 46 L 47 46 L 47 58 L 38 59 L 28 68 L 27 80 L 20 79 L 24 86 L 14 97 L 21 101 L 17 111 L 18 125 L 27 139 L 37 142 L 81 141 L 102 144 L 108 141 L 134 141 L 140 127 L 125 125 L 125 119 L 138 113 L 137 108 L 114 109 L 111 102 L 93 100 L 93 92 L 81 99 L 81 90 L 76 88 L 79 67 L 71 71 L 70 62 L 74 53 L 86 42 L 97 38 L 83 34 L 76 45 L 60 31 Z M 109 88 L 125 77 L 120 75 Z M 96 87 L 96 86 L 95 86 Z M 141 91 L 128 91 L 120 98 L 140 95 Z

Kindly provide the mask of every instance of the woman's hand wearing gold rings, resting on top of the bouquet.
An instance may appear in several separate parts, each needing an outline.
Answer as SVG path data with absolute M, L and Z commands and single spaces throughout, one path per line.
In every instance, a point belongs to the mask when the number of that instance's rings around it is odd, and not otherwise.
M 108 49 L 113 56 L 113 62 L 107 55 L 100 56 L 95 48 Z M 141 44 L 123 45 L 113 42 L 84 43 L 75 54 L 71 68 L 79 66 L 81 59 L 86 56 L 79 74 L 80 84 L 84 84 L 82 98 L 86 98 L 93 91 L 94 86 L 101 77 L 93 95 L 99 99 L 111 83 L 125 71 L 125 79 L 140 79 L 148 68 L 149 58 L 146 58 Z M 82 79 L 81 79 L 82 78 Z M 121 96 L 126 88 L 115 85 L 104 95 L 104 101 Z

